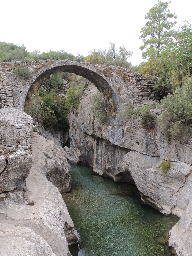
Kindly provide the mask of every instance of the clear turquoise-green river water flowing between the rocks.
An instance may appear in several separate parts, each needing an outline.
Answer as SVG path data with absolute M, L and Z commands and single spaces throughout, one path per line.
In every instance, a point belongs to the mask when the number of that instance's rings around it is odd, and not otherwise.
M 71 166 L 71 192 L 63 194 L 80 237 L 73 256 L 170 256 L 163 237 L 179 220 L 143 206 L 137 188 L 114 183 L 88 166 Z

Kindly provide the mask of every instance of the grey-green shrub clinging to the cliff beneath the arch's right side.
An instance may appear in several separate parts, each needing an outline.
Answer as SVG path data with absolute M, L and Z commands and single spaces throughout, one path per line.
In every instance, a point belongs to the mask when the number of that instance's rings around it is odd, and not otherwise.
M 95 93 L 92 95 L 91 99 L 91 112 L 94 114 L 96 120 L 100 124 L 104 124 L 107 121 L 107 114 L 106 114 L 106 105 L 104 100 L 102 99 L 102 95 L 100 92 Z

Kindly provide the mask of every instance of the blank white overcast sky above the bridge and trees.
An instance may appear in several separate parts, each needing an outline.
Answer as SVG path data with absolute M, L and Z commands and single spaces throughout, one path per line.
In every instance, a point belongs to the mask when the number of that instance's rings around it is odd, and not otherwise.
M 168 2 L 162 0 L 162 2 Z M 145 14 L 157 0 L 9 0 L 1 1 L 0 41 L 25 45 L 28 52 L 65 50 L 86 57 L 91 49 L 133 51 L 132 65 L 142 61 L 139 47 Z M 191 0 L 172 0 L 169 9 L 192 24 Z

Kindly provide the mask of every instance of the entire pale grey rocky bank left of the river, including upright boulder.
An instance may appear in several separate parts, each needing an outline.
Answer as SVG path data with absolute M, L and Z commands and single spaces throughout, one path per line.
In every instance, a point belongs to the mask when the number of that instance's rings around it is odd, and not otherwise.
M 70 256 L 78 238 L 60 194 L 71 188 L 66 158 L 23 111 L 1 109 L 0 127 L 0 255 Z

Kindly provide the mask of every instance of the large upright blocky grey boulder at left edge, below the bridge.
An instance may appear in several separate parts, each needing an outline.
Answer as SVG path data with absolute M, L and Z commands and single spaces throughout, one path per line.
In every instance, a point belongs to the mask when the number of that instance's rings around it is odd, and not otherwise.
M 20 189 L 32 166 L 33 119 L 14 108 L 0 109 L 0 194 Z

